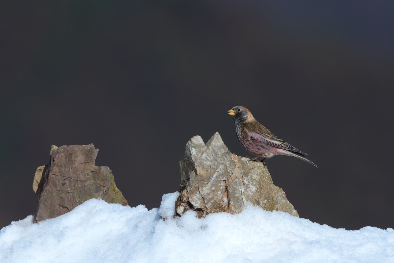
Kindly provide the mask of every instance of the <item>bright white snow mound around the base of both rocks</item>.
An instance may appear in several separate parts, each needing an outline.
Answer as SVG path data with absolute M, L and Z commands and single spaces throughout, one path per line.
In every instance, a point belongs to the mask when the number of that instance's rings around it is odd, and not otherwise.
M 173 218 L 176 198 L 150 211 L 92 199 L 38 224 L 28 216 L 0 230 L 0 262 L 394 262 L 392 228 L 335 229 L 252 205 Z

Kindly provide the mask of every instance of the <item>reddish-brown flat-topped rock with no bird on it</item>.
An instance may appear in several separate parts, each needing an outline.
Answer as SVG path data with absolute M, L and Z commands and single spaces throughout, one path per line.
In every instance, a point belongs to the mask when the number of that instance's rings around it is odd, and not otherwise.
M 63 215 L 91 198 L 127 205 L 108 166 L 97 167 L 99 149 L 89 145 L 52 145 L 50 162 L 37 168 L 33 190 L 39 196 L 34 222 Z

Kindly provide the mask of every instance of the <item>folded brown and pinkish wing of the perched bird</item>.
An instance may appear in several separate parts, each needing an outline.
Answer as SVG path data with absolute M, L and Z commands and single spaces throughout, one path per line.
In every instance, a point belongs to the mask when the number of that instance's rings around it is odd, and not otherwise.
M 273 147 L 292 151 L 294 153 L 299 153 L 301 155 L 307 155 L 303 151 L 300 151 L 296 147 L 288 144 L 287 142 L 284 142 L 282 139 L 273 135 L 272 132 L 270 132 L 266 127 L 264 127 L 262 124 L 258 122 L 248 123 L 245 125 L 245 128 L 249 132 L 249 135 L 252 140 L 263 142 Z

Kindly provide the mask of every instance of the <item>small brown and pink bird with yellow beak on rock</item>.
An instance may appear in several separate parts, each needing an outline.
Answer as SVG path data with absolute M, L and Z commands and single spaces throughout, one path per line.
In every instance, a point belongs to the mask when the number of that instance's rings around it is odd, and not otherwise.
M 266 127 L 256 121 L 247 108 L 235 106 L 227 113 L 234 119 L 238 142 L 246 151 L 256 155 L 255 158 L 249 158 L 248 161 L 256 161 L 262 157 L 261 162 L 263 162 L 266 158 L 271 158 L 275 155 L 287 155 L 318 167 L 305 157 L 306 153 L 273 135 Z

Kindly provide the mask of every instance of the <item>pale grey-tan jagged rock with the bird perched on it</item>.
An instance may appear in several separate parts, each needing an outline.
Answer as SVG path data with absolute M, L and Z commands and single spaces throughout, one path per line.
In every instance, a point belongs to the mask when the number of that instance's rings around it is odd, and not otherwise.
M 200 136 L 191 138 L 180 161 L 176 215 L 190 209 L 200 218 L 217 212 L 237 214 L 251 202 L 268 211 L 298 216 L 282 188 L 273 184 L 267 167 L 247 160 L 230 153 L 218 132 L 206 144 Z

